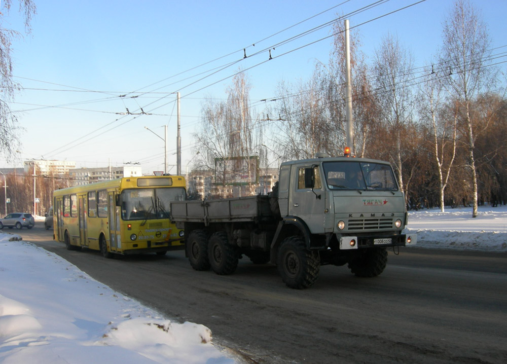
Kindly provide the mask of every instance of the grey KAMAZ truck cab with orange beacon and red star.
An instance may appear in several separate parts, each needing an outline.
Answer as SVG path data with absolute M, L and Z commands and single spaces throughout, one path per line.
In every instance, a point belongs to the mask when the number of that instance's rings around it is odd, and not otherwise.
M 404 195 L 387 162 L 321 157 L 284 162 L 279 176 L 282 219 L 300 221 L 311 236 L 325 235 L 327 246 L 333 241 L 340 249 L 415 243 L 415 236 L 402 235 Z M 313 238 L 309 247 L 321 244 Z

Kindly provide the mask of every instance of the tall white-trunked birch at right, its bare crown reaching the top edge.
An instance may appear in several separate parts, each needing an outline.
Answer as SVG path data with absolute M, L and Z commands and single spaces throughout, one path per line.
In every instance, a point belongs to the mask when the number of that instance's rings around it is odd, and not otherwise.
M 485 67 L 490 40 L 486 25 L 468 1 L 456 0 L 443 23 L 443 46 L 440 63 L 445 65 L 445 86 L 464 111 L 463 129 L 466 135 L 467 164 L 472 178 L 473 212 L 477 216 L 478 186 L 475 149 L 475 129 L 472 105 L 481 92 L 493 84 L 491 72 Z

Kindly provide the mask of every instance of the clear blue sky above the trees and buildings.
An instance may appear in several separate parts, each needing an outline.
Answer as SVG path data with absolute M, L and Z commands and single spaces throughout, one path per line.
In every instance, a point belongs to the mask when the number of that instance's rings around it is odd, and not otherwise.
M 416 1 L 387 1 L 349 17 L 350 25 Z M 22 160 L 45 158 L 76 161 L 78 167 L 106 167 L 109 161 L 113 166 L 140 162 L 144 173 L 163 170 L 163 141 L 144 126 L 163 136 L 164 125 L 169 128 L 168 163 L 175 165 L 173 92 L 180 91 L 184 173 L 195 154 L 192 133 L 198 127 L 203 98 L 225 98 L 231 79 L 222 79 L 233 75 L 240 66 L 248 68 L 269 57 L 265 51 L 243 60 L 243 48 L 251 55 L 331 21 L 337 13 L 347 14 L 373 2 L 35 0 L 37 15 L 31 23 L 32 33 L 13 43 L 13 74 L 23 89 L 11 110 L 16 111 L 24 128 L 22 147 L 18 160 L 0 161 L 0 167 L 21 166 Z M 341 3 L 345 4 L 260 42 Z M 492 47 L 507 45 L 507 1 L 472 3 L 489 27 Z M 451 0 L 426 0 L 354 28 L 351 37 L 359 36 L 363 52 L 373 59 L 382 37 L 388 32 L 395 34 L 413 54 L 415 65 L 422 66 L 441 44 L 442 21 L 452 4 Z M 17 9 L 17 4 L 13 9 Z M 4 17 L 3 24 L 23 29 L 15 11 Z M 257 101 L 258 113 L 267 106 L 258 101 L 275 97 L 281 80 L 306 80 L 317 60 L 327 63 L 332 39 L 277 56 L 327 37 L 330 30 L 328 26 L 276 46 L 272 50 L 274 59 L 247 72 L 253 86 L 250 96 L 252 102 Z M 227 54 L 230 55 L 175 76 Z M 233 61 L 239 62 L 193 85 L 188 86 L 199 77 L 183 80 Z M 204 89 L 197 91 L 201 88 Z M 151 93 L 139 95 L 133 91 Z M 126 108 L 134 112 L 139 107 L 154 115 L 134 118 L 117 114 L 126 112 Z M 171 173 L 176 172 L 175 166 L 169 168 Z

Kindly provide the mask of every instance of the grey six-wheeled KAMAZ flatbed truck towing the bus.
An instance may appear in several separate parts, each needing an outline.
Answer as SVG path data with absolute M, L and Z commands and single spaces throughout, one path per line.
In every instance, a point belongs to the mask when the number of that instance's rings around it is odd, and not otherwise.
M 348 265 L 375 277 L 387 248 L 416 244 L 405 234 L 407 210 L 389 163 L 318 155 L 284 162 L 269 195 L 171 202 L 196 270 L 231 274 L 238 260 L 276 264 L 291 288 L 315 283 L 320 266 Z

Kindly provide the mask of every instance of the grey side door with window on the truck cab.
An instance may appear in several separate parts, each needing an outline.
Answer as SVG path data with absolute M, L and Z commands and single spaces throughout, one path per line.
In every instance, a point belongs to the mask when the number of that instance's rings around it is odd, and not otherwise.
M 319 166 L 293 166 L 288 214 L 300 217 L 312 233 L 324 232 L 324 192 Z

